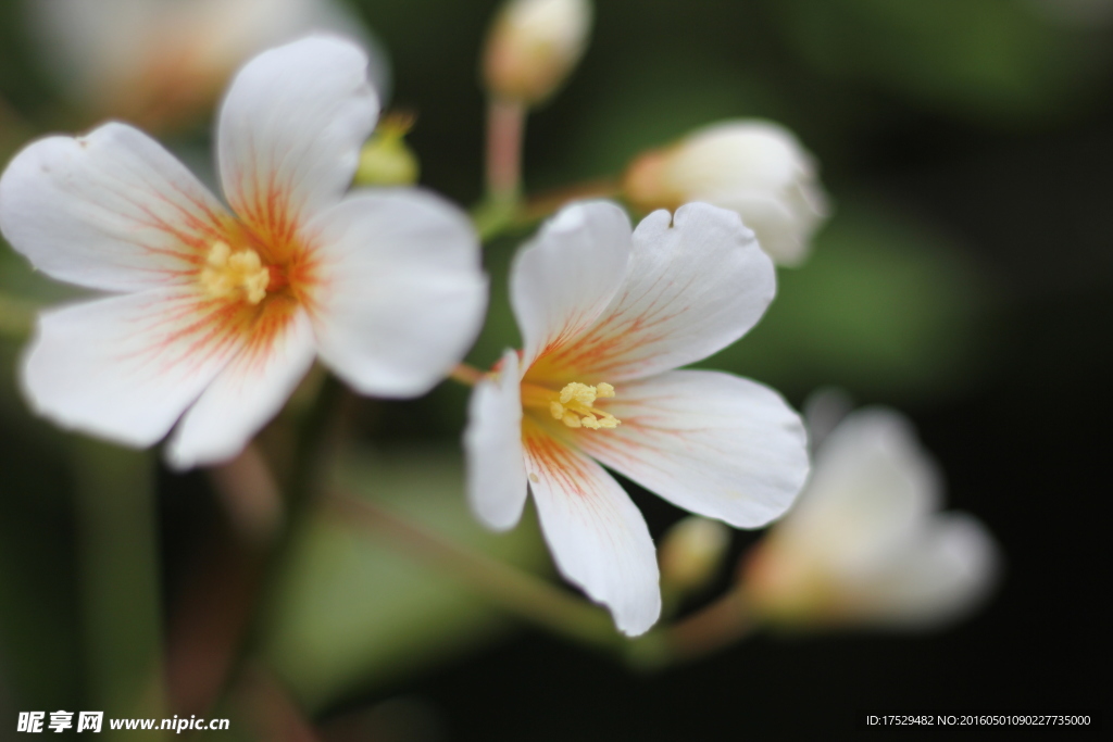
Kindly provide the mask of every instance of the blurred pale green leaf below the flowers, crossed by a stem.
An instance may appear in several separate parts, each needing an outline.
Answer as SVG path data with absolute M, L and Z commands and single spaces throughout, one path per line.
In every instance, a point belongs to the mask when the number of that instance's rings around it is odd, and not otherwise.
M 353 453 L 338 485 L 446 540 L 526 568 L 548 564 L 526 521 L 508 534 L 467 509 L 455 449 Z M 452 578 L 335 514 L 317 513 L 295 546 L 265 654 L 309 709 L 492 639 L 500 613 Z

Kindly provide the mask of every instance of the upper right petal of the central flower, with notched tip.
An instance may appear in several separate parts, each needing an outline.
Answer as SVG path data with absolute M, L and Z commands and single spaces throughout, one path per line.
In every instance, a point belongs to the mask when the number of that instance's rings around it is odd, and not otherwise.
M 613 384 L 706 358 L 757 324 L 776 276 L 738 215 L 688 204 L 671 221 L 654 211 L 638 225 L 626 284 L 548 363 L 584 383 Z

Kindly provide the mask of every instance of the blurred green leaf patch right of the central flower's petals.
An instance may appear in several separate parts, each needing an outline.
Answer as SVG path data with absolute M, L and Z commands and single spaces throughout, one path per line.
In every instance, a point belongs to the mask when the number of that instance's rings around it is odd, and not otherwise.
M 992 347 L 994 291 L 962 251 L 877 205 L 840 204 L 802 267 L 739 343 L 700 364 L 790 396 L 835 384 L 907 399 L 972 382 Z

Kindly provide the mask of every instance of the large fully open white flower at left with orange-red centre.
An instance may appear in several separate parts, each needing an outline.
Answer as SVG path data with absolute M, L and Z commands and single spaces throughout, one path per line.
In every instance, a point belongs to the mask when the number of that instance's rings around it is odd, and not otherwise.
M 188 467 L 235 455 L 318 354 L 384 396 L 457 362 L 485 303 L 465 216 L 417 190 L 344 196 L 378 109 L 366 62 L 311 37 L 239 72 L 217 132 L 230 210 L 121 123 L 12 160 L 4 237 L 112 295 L 41 316 L 22 367 L 38 412 L 134 446 L 177 423 L 168 457 Z

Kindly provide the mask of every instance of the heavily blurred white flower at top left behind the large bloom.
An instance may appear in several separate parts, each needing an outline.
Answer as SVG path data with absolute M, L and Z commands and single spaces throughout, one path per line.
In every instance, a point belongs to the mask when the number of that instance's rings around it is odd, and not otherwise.
M 168 128 L 203 113 L 254 55 L 331 31 L 385 60 L 337 0 L 26 0 L 46 59 L 72 98 L 101 117 Z

